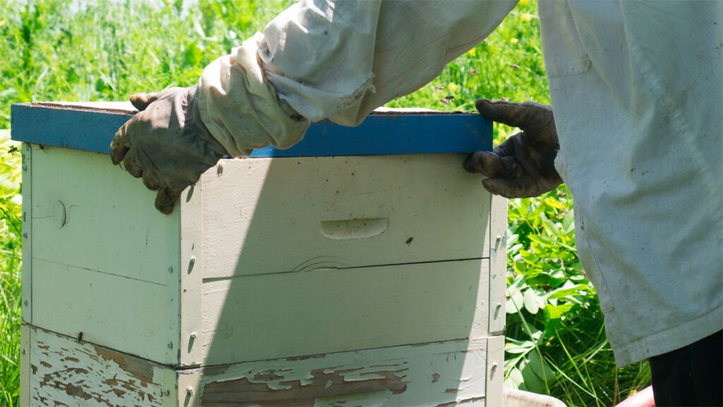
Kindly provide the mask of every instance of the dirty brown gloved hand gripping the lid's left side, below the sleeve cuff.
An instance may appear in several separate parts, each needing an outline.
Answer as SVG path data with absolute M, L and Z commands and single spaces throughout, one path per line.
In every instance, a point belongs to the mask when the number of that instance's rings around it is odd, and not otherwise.
M 213 167 L 226 150 L 208 132 L 198 113 L 198 85 L 136 93 L 131 103 L 140 110 L 111 142 L 113 164 L 142 177 L 158 190 L 155 208 L 170 214 L 181 192 Z

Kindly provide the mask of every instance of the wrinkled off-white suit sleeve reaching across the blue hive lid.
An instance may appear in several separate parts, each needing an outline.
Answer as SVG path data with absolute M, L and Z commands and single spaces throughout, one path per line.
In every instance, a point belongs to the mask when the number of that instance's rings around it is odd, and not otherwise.
M 516 1 L 301 1 L 205 68 L 201 118 L 232 155 L 291 147 L 321 119 L 357 125 L 434 79 Z

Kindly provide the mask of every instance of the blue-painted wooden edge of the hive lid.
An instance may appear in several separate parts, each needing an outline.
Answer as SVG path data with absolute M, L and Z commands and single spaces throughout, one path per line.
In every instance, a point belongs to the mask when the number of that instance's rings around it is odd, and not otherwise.
M 43 144 L 108 154 L 108 146 L 127 112 L 68 109 L 14 104 L 11 137 Z M 479 114 L 371 114 L 357 127 L 322 121 L 286 150 L 271 146 L 251 157 L 359 156 L 388 154 L 470 153 L 492 149 L 492 123 Z

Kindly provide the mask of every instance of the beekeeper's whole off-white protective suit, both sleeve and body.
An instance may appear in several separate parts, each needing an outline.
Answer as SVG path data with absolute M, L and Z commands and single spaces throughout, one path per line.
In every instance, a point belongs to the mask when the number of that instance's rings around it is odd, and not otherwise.
M 301 1 L 205 69 L 202 119 L 231 154 L 356 125 L 514 5 Z M 722 330 L 723 1 L 540 0 L 539 17 L 556 166 L 617 363 Z

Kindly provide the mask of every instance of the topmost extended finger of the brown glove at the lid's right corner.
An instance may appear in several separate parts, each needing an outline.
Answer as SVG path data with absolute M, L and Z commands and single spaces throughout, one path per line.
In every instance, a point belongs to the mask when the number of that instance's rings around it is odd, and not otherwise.
M 475 104 L 479 114 L 504 125 L 526 129 L 549 125 L 552 110 L 549 106 L 531 101 L 514 103 L 510 101 L 490 101 L 479 99 Z

